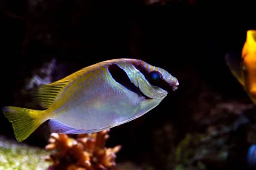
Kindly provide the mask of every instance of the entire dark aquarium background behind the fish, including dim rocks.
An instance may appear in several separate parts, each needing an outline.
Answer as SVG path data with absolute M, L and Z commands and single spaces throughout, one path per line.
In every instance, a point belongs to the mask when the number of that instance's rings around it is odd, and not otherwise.
M 249 169 L 247 162 L 256 160 L 247 157 L 256 143 L 256 110 L 224 57 L 241 57 L 246 31 L 256 29 L 255 5 L 249 0 L 2 0 L 0 106 L 39 109 L 30 97 L 37 83 L 108 59 L 141 59 L 166 69 L 180 85 L 144 116 L 111 129 L 106 146 L 122 145 L 116 153 L 120 169 Z M 7 144 L 15 140 L 2 113 L 0 135 Z M 22 143 L 44 149 L 49 135 L 45 123 Z

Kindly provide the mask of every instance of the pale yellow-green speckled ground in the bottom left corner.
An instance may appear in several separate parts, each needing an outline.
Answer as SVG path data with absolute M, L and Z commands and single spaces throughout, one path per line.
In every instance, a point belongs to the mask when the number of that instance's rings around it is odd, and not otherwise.
M 0 136 L 0 170 L 46 170 L 50 152 Z

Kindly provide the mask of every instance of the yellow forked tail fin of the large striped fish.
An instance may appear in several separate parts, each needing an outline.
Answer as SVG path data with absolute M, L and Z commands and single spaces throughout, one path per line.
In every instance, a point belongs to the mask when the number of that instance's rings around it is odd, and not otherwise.
M 41 122 L 38 113 L 32 109 L 19 108 L 19 107 L 3 107 L 3 114 L 12 123 L 15 137 L 18 142 L 22 142 L 28 138 L 43 122 Z

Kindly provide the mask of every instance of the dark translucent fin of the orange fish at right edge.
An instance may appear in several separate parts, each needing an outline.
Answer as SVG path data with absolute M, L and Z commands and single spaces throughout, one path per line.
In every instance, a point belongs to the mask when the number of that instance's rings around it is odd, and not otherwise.
M 241 85 L 244 86 L 244 79 L 241 76 L 241 62 L 239 61 L 239 59 L 232 54 L 226 54 L 225 59 L 231 73 L 236 77 Z

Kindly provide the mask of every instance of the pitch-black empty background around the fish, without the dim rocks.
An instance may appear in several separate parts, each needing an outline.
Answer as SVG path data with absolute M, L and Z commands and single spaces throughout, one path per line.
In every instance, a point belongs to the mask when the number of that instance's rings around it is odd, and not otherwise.
M 60 78 L 107 59 L 142 59 L 169 71 L 180 85 L 149 113 L 112 128 L 108 146 L 123 145 L 117 161 L 150 162 L 156 169 L 166 169 L 166 157 L 159 154 L 169 154 L 169 149 L 163 145 L 158 153 L 154 147 L 160 137 L 153 133 L 171 125 L 167 133 L 175 134 L 172 144 L 177 146 L 186 133 L 203 129 L 193 114 L 201 107 L 199 97 L 205 89 L 220 95 L 221 101 L 251 103 L 224 56 L 232 52 L 240 57 L 246 31 L 256 29 L 253 7 L 248 0 L 3 0 L 0 106 L 25 107 L 20 95 L 25 78 L 52 58 L 65 65 L 55 73 Z M 3 114 L 0 128 L 0 134 L 14 138 Z M 47 144 L 34 133 L 24 142 Z M 241 162 L 224 167 L 244 166 Z

